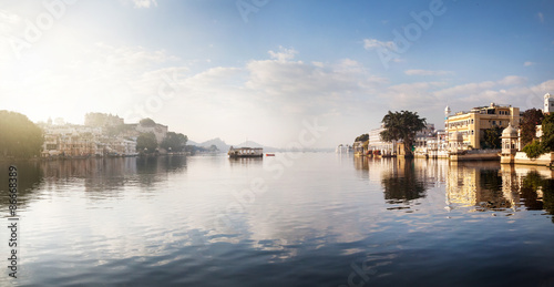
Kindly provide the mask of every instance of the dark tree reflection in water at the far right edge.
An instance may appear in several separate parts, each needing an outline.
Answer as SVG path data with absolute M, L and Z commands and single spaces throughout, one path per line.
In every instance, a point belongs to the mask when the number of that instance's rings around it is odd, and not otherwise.
M 542 191 L 542 201 L 538 191 Z M 529 172 L 523 178 L 521 194 L 527 209 L 544 209 L 554 215 L 554 180 L 543 178 L 537 172 Z

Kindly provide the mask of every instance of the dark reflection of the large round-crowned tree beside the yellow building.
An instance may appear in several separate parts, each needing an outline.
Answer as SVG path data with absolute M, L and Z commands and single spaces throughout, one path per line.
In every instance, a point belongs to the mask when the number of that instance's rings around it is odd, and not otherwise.
M 390 204 L 424 197 L 428 188 L 425 182 L 416 174 L 413 160 L 400 161 L 396 168 L 383 174 L 381 184 L 384 187 L 384 199 Z

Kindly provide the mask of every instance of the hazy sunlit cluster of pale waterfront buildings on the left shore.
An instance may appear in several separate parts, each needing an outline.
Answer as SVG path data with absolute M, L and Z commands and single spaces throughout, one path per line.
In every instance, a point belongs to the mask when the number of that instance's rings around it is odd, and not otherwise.
M 84 125 L 52 120 L 38 124 L 43 130 L 42 157 L 135 156 L 136 139 L 152 132 L 160 144 L 167 125 L 125 124 L 123 119 L 103 113 L 88 113 Z

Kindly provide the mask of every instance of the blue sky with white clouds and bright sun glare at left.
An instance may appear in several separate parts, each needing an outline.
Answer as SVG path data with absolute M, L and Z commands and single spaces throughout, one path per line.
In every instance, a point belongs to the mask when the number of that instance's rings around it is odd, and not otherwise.
M 0 110 L 195 142 L 334 147 L 388 111 L 541 109 L 553 66 L 551 0 L 0 0 Z

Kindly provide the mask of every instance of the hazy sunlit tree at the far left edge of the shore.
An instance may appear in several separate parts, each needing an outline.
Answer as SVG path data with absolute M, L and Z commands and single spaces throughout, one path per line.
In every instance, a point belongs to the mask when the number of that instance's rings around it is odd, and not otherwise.
M 0 158 L 40 155 L 42 130 L 20 113 L 0 111 Z

